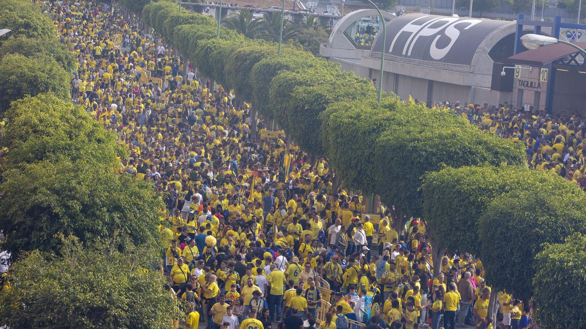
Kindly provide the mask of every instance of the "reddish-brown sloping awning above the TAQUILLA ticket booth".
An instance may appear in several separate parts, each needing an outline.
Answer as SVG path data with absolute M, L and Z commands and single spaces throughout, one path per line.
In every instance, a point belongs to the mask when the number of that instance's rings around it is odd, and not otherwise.
M 576 46 L 584 49 L 586 42 L 573 42 Z M 532 66 L 544 66 L 550 61 L 577 53 L 578 50 L 568 44 L 554 43 L 548 46 L 539 47 L 533 50 L 526 50 L 506 59 L 511 64 L 527 64 Z

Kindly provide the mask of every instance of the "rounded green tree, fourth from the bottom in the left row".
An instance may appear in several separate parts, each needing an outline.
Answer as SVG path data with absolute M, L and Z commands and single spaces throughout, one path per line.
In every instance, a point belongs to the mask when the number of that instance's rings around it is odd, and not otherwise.
M 0 60 L 0 111 L 25 95 L 51 91 L 63 100 L 70 97 L 71 74 L 48 56 L 7 54 Z

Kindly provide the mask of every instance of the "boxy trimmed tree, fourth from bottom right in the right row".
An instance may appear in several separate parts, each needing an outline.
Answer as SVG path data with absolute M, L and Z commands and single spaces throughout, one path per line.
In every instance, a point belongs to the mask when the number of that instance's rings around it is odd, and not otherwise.
M 375 161 L 380 164 L 376 184 L 381 201 L 396 205 L 409 217 L 422 216 L 420 187 L 427 172 L 443 165 L 525 162 L 520 145 L 479 131 L 449 110 L 421 108 L 415 118 L 412 111 L 397 112 L 391 128 L 376 143 Z

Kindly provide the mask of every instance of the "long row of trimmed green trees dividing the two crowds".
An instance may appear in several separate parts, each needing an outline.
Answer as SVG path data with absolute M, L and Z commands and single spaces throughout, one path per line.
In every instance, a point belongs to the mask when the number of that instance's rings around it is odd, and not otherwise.
M 398 229 L 411 217 L 424 218 L 436 263 L 444 250 L 481 257 L 494 288 L 493 310 L 496 292 L 507 289 L 533 297 L 538 306 L 560 301 L 560 307 L 539 307 L 546 327 L 575 327 L 586 320 L 575 313 L 580 301 L 573 297 L 584 292 L 583 277 L 578 280 L 575 272 L 554 276 L 560 280 L 548 277 L 560 259 L 543 251 L 564 243 L 578 248 L 571 244 L 586 233 L 580 218 L 586 196 L 579 187 L 530 172 L 523 145 L 481 132 L 450 111 L 404 103 L 391 94 L 379 105 L 369 80 L 336 64 L 293 46 L 277 56 L 275 43 L 224 28 L 216 38 L 215 21 L 177 11 L 176 4 L 159 1 L 144 6 L 142 15 L 203 75 L 275 118 L 302 149 L 326 156 L 347 188 L 377 194 L 392 205 Z M 577 235 L 566 240 L 571 234 Z M 570 283 L 568 277 L 576 280 Z M 574 293 L 554 293 L 568 289 Z

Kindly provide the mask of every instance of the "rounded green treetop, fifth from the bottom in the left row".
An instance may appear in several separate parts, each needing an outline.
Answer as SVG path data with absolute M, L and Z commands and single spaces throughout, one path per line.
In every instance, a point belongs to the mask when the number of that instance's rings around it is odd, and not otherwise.
M 0 47 L 0 60 L 6 54 L 21 54 L 26 57 L 49 56 L 67 72 L 73 72 L 76 67 L 76 57 L 67 47 L 60 42 L 55 42 L 54 37 L 32 38 L 19 36 L 2 42 Z

